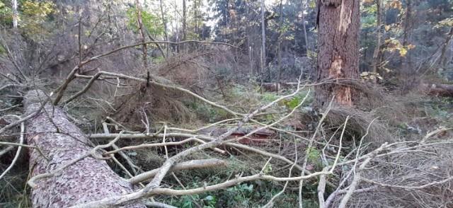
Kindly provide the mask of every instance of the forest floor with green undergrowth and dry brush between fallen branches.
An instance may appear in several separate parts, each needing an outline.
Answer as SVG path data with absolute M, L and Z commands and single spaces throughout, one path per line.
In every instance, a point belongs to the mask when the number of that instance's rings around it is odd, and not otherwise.
M 102 86 L 97 87 L 102 88 Z M 50 86 L 50 88 L 52 87 Z M 69 89 L 68 91 L 75 92 L 78 88 Z M 216 100 L 216 103 L 231 110 L 251 112 L 260 108 L 260 106 L 277 100 L 282 95 L 292 92 L 294 92 L 294 88 L 287 88 L 280 92 L 280 95 L 275 92 L 260 93 L 259 88 L 256 86 L 234 84 L 226 86 L 222 93 L 211 93 L 206 97 L 208 100 Z M 311 172 L 322 171 L 328 163 L 331 163 L 333 158 L 336 157 L 338 146 L 343 148 L 340 154 L 340 161 L 346 164 L 360 155 L 366 156 L 384 142 L 394 144 L 395 148 L 398 146 L 400 149 L 397 150 L 402 152 L 404 148 L 412 148 L 411 146 L 423 144 L 428 139 L 432 142 L 429 143 L 432 145 L 428 149 L 424 149 L 425 146 L 423 145 L 419 149 L 413 149 L 419 153 L 416 157 L 407 151 L 395 157 L 386 157 L 383 160 L 376 158 L 373 161 L 373 166 L 370 166 L 369 170 L 363 171 L 362 175 L 366 175 L 367 180 L 375 180 L 377 182 L 374 185 L 371 182 L 362 182 L 363 185 L 360 188 L 363 190 L 367 187 L 374 187 L 377 183 L 385 183 L 389 187 L 407 186 L 409 188 L 406 193 L 409 195 L 416 193 L 416 196 L 412 198 L 415 201 L 411 203 L 419 204 L 420 207 L 420 203 L 428 197 L 431 198 L 430 200 L 432 200 L 433 204 L 452 203 L 450 200 L 445 200 L 445 197 L 453 195 L 452 192 L 445 191 L 446 186 L 448 186 L 445 183 L 430 187 L 428 190 L 420 188 L 415 191 L 415 189 L 411 190 L 411 187 L 440 181 L 450 174 L 448 164 L 453 163 L 453 161 L 442 161 L 440 157 L 449 158 L 451 156 L 449 149 L 442 149 L 442 147 L 447 148 L 452 145 L 450 141 L 453 139 L 453 132 L 449 128 L 453 127 L 453 99 L 451 97 L 426 95 L 418 91 L 404 95 L 399 94 L 397 91 L 392 91 L 391 93 L 379 92 L 382 96 L 381 100 L 384 100 L 382 103 L 374 103 L 377 105 L 360 104 L 357 106 L 360 108 L 359 110 L 347 110 L 333 106 L 328 110 L 326 117 L 323 117 L 322 115 L 326 112 L 316 112 L 316 110 L 311 108 L 313 89 L 310 87 L 302 88 L 295 96 L 282 99 L 272 105 L 270 110 L 255 117 L 255 120 L 244 125 L 240 131 L 234 132 L 231 137 L 241 137 L 251 132 L 251 129 L 276 123 L 272 127 L 268 127 L 265 132 L 256 132 L 247 137 L 247 139 L 239 140 L 238 143 L 268 153 L 285 156 L 292 161 L 297 161 L 301 166 L 304 164 L 305 169 Z M 99 125 L 104 120 L 103 117 L 110 112 L 108 106 L 118 104 L 105 105 L 99 100 L 91 99 L 91 97 L 95 98 L 98 93 L 99 91 L 88 91 L 84 98 L 77 100 L 76 105 L 71 105 L 70 103 L 64 108 L 74 119 L 74 122 L 81 129 L 84 129 L 87 134 L 101 132 L 102 127 Z M 11 91 L 2 93 L 2 103 L 0 103 L 2 107 L 20 104 L 15 97 L 9 96 L 10 94 Z M 165 96 L 168 95 L 160 97 L 159 95 L 154 95 L 153 99 L 155 101 Z M 145 96 L 140 99 L 144 99 L 141 102 L 146 103 L 148 98 Z M 234 118 L 228 112 L 212 105 L 207 105 L 207 103 L 200 102 L 200 100 L 185 97 L 180 100 L 178 105 L 173 103 L 171 107 L 167 106 L 172 108 L 171 110 L 164 109 L 164 105 L 166 105 L 164 101 L 160 100 L 159 102 L 161 103 L 154 105 L 154 108 L 156 108 L 154 109 L 156 110 L 155 115 L 159 115 L 159 117 L 149 117 L 154 125 L 151 131 L 158 131 L 162 124 L 169 127 L 197 129 L 207 124 L 219 122 L 219 125 L 215 125 L 214 128 L 199 132 L 200 134 L 216 136 L 236 125 L 235 121 L 222 122 Z M 130 106 L 142 105 L 138 103 L 128 104 Z M 179 110 L 177 117 L 183 117 L 184 119 L 176 120 L 174 116 L 171 117 L 171 111 L 175 109 Z M 20 111 L 21 109 L 18 108 L 16 110 Z M 168 120 L 164 120 L 168 115 Z M 137 122 L 137 120 L 140 120 L 139 116 L 136 116 L 136 120 L 132 119 L 133 116 L 128 117 L 130 119 L 127 120 L 125 120 L 125 117 L 125 114 L 116 115 L 115 119 L 121 120 L 122 125 L 132 130 L 139 132 L 145 130 L 142 123 Z M 281 120 L 282 117 L 285 117 L 285 120 Z M 349 122 L 345 122 L 346 120 L 349 120 Z M 440 131 L 432 134 L 432 132 L 437 130 Z M 13 141 L 17 131 L 17 129 L 13 130 L 11 138 L 5 138 L 5 140 Z M 427 135 L 430 135 L 430 137 L 427 138 Z M 311 138 L 316 141 L 313 145 L 309 143 Z M 178 140 L 180 138 L 175 137 L 173 139 Z M 127 146 L 142 142 L 124 140 L 118 145 Z M 165 161 L 165 155 L 178 154 L 191 145 L 194 144 L 173 146 L 168 149 L 139 149 L 127 151 L 127 155 L 134 160 L 137 166 L 142 167 L 144 170 L 151 170 L 159 168 L 160 164 Z M 282 163 L 282 161 L 273 161 L 272 164 L 268 164 L 269 157 L 263 156 L 263 154 L 235 148 L 234 146 L 222 146 L 221 149 L 226 150 L 226 154 L 200 151 L 186 159 L 220 158 L 226 162 L 225 167 L 180 171 L 173 177 L 167 177 L 163 186 L 175 189 L 192 189 L 222 183 L 224 180 L 238 177 L 238 175 L 260 173 L 260 171 L 279 177 L 291 177 L 292 175 L 300 174 L 300 171 Z M 358 153 L 359 150 L 360 153 Z M 388 149 L 387 151 L 396 152 L 395 149 Z M 23 151 L 22 154 L 21 159 L 16 163 L 13 170 L 0 181 L 1 207 L 30 207 L 30 188 L 26 185 L 26 180 L 29 177 L 28 156 L 26 151 Z M 434 156 L 432 156 L 433 154 Z M 1 157 L 2 168 L 11 163 L 13 156 L 13 151 L 11 151 Z M 115 163 L 111 163 L 111 166 L 118 174 L 125 176 Z M 329 177 L 328 181 L 334 185 L 326 187 L 326 199 L 336 191 L 336 185 L 343 180 L 352 180 L 352 178 L 345 178 L 345 175 L 350 173 L 348 171 L 351 171 L 355 166 L 344 165 L 343 168 L 336 171 L 335 175 Z M 433 167 L 436 174 L 426 171 Z M 389 172 L 390 169 L 394 171 Z M 414 173 L 413 171 L 418 172 Z M 398 177 L 411 174 L 414 178 L 398 181 Z M 423 180 L 420 178 L 423 178 Z M 447 184 L 449 183 L 448 180 Z M 273 199 L 282 190 L 285 190 L 282 195 L 277 200 Z M 294 207 L 299 203 L 299 191 L 301 191 L 299 181 L 282 183 L 272 180 L 254 180 L 214 192 L 203 192 L 187 196 L 159 195 L 154 197 L 154 199 L 176 207 L 260 207 L 270 201 L 273 201 L 274 207 Z M 385 185 L 382 185 L 382 188 L 376 188 L 375 192 L 364 192 L 354 195 L 350 202 L 358 207 L 374 206 L 376 204 L 379 204 L 378 207 L 391 207 L 391 204 L 403 204 L 411 198 L 408 197 L 408 194 L 398 194 L 390 197 L 388 202 L 384 204 L 380 202 L 379 197 L 383 197 L 389 192 L 393 192 L 393 190 L 389 190 L 385 188 Z M 432 197 L 430 195 L 433 192 L 442 192 L 442 195 Z M 319 207 L 318 194 L 319 181 L 314 179 L 306 180 L 302 187 L 304 207 Z M 373 197 L 378 197 L 378 200 L 373 200 Z M 334 199 L 331 203 L 335 204 L 340 202 L 340 200 L 341 198 Z

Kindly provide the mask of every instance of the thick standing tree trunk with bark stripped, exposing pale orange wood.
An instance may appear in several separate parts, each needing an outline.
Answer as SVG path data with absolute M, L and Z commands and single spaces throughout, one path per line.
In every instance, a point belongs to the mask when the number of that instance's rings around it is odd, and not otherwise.
M 352 107 L 358 93 L 342 79 L 359 79 L 359 0 L 318 0 L 319 54 L 316 80 L 334 81 L 315 86 L 315 103 L 325 108 L 336 103 Z

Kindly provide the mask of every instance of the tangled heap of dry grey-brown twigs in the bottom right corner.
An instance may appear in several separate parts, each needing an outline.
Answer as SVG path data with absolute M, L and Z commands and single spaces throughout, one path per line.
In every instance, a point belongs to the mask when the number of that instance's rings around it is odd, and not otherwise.
M 412 151 L 403 150 L 408 148 Z M 451 177 L 452 148 L 451 141 L 436 141 L 428 146 L 415 142 L 394 146 L 391 151 L 395 154 L 374 158 L 362 173 L 363 178 L 389 186 L 378 185 L 372 191 L 352 195 L 349 207 L 453 207 L 453 182 L 433 183 Z M 359 188 L 374 185 L 362 181 Z M 340 198 L 332 206 L 338 206 L 339 201 Z

